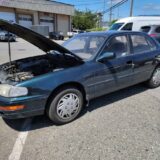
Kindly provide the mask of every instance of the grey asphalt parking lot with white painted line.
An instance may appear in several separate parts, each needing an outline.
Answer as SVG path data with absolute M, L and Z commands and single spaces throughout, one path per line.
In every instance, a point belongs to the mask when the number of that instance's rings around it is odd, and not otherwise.
M 62 43 L 59 41 L 58 43 Z M 12 59 L 43 54 L 17 39 Z M 0 63 L 8 61 L 0 42 Z M 0 160 L 159 160 L 160 88 L 136 85 L 91 101 L 72 123 L 0 118 Z

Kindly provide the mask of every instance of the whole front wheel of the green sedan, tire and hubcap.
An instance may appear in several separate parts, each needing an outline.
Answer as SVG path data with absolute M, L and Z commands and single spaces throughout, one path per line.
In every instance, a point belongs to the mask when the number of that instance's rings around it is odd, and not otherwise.
M 47 107 L 47 115 L 55 124 L 73 121 L 82 110 L 83 95 L 75 87 L 64 87 L 56 92 Z

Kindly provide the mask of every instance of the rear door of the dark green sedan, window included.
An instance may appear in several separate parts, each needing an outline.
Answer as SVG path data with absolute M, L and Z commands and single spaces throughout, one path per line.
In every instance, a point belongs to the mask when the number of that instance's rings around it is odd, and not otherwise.
M 150 78 L 155 65 L 157 46 L 150 37 L 143 34 L 132 34 L 132 54 L 134 64 L 134 82 L 139 83 Z

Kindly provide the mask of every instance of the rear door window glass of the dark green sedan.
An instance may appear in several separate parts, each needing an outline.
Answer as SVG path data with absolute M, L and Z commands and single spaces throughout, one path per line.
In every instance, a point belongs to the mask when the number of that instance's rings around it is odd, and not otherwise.
M 156 49 L 156 45 L 145 36 L 131 35 L 131 40 L 134 54 L 145 53 Z

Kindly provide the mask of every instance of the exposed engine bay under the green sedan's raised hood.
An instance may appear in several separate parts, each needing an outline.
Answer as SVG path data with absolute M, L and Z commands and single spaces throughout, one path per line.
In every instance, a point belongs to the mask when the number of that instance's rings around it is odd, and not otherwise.
M 0 83 L 21 82 L 51 71 L 47 59 L 30 58 L 0 66 Z

